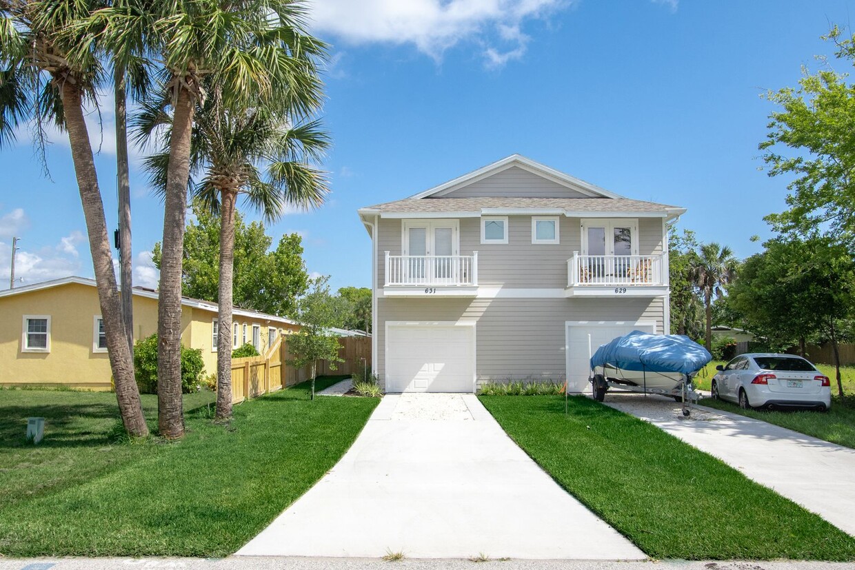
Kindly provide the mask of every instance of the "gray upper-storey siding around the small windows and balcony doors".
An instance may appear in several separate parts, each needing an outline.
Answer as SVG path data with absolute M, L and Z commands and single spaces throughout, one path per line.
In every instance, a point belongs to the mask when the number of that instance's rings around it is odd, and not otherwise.
M 478 251 L 478 283 L 513 288 L 564 288 L 567 286 L 567 260 L 574 251 L 581 253 L 581 219 L 558 216 L 561 243 L 532 244 L 530 215 L 508 218 L 507 244 L 481 244 L 481 219 L 460 220 L 460 255 Z M 377 283 L 386 283 L 385 251 L 401 255 L 401 220 L 380 219 L 377 243 Z M 639 219 L 639 253 L 662 253 L 662 219 Z

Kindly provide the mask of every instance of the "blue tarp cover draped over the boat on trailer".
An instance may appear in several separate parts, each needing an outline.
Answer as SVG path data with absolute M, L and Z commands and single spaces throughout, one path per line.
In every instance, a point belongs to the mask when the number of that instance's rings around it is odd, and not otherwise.
M 681 334 L 633 331 L 600 346 L 591 356 L 591 368 L 610 364 L 623 370 L 690 374 L 711 360 L 703 346 Z

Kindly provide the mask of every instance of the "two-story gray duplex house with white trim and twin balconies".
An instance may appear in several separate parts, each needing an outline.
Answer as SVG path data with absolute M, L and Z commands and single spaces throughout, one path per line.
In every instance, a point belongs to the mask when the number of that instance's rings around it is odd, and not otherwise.
M 567 379 L 611 338 L 669 332 L 668 227 L 686 210 L 514 155 L 359 210 L 386 391 Z

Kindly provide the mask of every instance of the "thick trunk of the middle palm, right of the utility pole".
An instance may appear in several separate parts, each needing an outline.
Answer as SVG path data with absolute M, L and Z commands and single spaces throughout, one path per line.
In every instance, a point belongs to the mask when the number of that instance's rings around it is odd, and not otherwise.
M 181 405 L 181 269 L 187 181 L 190 178 L 190 138 L 193 97 L 178 86 L 172 135 L 169 139 L 160 291 L 157 297 L 157 426 L 164 438 L 184 436 Z

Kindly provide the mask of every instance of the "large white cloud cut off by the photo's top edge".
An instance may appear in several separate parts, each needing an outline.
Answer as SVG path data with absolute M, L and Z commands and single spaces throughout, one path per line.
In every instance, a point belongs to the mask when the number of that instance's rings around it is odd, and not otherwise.
M 318 0 L 312 6 L 316 31 L 351 44 L 413 44 L 439 61 L 464 42 L 482 48 L 487 67 L 520 59 L 528 36 L 522 22 L 544 18 L 573 0 Z M 339 62 L 336 61 L 336 67 Z

